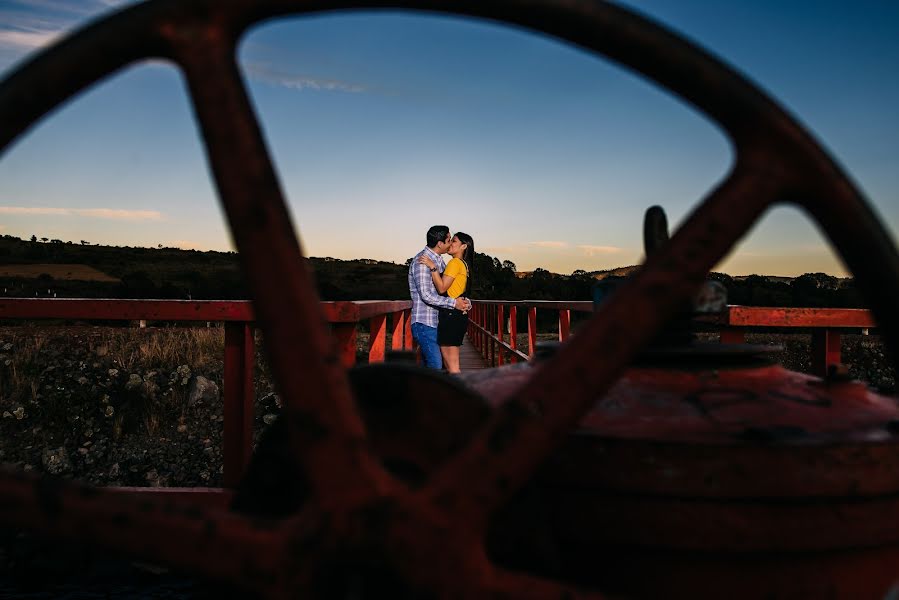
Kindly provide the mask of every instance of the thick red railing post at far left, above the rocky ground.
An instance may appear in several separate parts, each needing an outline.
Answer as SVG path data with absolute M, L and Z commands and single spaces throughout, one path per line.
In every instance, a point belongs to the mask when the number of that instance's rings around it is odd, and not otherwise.
M 225 487 L 243 477 L 253 446 L 255 344 L 249 323 L 225 323 L 224 473 Z

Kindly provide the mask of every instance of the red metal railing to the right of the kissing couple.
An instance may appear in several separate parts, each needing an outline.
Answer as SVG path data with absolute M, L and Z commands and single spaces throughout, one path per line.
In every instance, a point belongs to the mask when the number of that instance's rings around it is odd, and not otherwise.
M 530 360 L 534 356 L 538 308 L 558 311 L 560 341 L 570 334 L 571 311 L 593 311 L 592 302 L 475 300 L 473 304 L 469 337 L 492 366 L 502 365 L 506 355 L 511 362 Z M 519 310 L 527 310 L 528 315 L 527 353 L 517 345 Z M 811 329 L 812 372 L 822 377 L 829 365 L 840 363 L 840 330 L 877 326 L 870 311 L 851 308 L 728 306 L 726 312 L 710 321 L 720 327 L 720 339 L 726 343 L 744 342 L 751 328 Z

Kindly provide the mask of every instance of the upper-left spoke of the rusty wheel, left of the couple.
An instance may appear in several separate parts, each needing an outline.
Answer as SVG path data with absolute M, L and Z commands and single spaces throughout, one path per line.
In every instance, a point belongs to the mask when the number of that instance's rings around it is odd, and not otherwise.
M 178 60 L 286 400 L 291 446 L 324 504 L 356 504 L 383 493 L 391 480 L 366 450 L 364 426 L 231 41 L 216 34 L 200 36 L 200 44 L 189 39 Z

